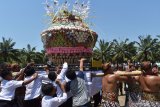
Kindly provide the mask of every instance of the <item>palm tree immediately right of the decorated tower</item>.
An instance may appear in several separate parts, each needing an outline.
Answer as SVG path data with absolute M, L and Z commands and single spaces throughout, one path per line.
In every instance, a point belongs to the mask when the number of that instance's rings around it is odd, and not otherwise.
M 102 63 L 105 61 L 111 61 L 110 52 L 112 49 L 112 44 L 109 42 L 105 42 L 104 40 L 98 41 L 99 46 L 95 47 L 93 51 L 93 57 L 95 59 L 101 60 Z

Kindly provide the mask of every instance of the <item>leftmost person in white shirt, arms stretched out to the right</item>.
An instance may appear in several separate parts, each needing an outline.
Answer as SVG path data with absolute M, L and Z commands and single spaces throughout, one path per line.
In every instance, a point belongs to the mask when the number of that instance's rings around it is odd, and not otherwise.
M 35 78 L 37 78 L 37 73 L 31 75 L 31 78 L 25 81 L 17 81 L 21 76 L 23 76 L 23 72 L 17 80 L 13 80 L 12 73 L 9 70 L 3 70 L 1 72 L 1 76 L 3 80 L 1 82 L 2 90 L 0 92 L 0 107 L 12 107 L 14 105 L 13 99 L 15 89 L 32 82 Z

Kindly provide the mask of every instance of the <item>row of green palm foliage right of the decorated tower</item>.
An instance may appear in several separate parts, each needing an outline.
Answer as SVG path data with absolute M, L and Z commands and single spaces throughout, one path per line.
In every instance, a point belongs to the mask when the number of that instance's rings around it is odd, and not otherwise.
M 94 49 L 93 58 L 117 64 L 128 60 L 160 62 L 160 36 L 152 38 L 151 35 L 146 35 L 138 38 L 139 42 L 130 42 L 128 38 L 124 41 L 114 39 L 111 42 L 100 40 L 98 48 Z

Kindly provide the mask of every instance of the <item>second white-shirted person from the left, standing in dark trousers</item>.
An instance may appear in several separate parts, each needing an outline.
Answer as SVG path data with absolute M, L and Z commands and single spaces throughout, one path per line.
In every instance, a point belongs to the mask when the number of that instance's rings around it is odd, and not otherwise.
M 25 79 L 29 80 L 31 75 L 35 73 L 35 69 L 32 66 L 28 66 L 25 70 Z M 42 80 L 47 80 L 48 76 L 38 73 L 38 77 L 30 84 L 26 85 L 24 107 L 41 107 L 41 87 Z

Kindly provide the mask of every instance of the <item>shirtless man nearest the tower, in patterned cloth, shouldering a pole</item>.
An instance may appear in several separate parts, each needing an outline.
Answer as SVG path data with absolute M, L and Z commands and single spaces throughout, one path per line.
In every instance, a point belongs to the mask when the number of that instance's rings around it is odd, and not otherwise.
M 114 74 L 110 63 L 103 65 L 104 76 L 102 78 L 102 99 L 105 101 L 103 107 L 120 107 L 118 102 L 117 81 L 125 80 L 117 74 Z

